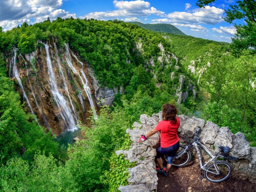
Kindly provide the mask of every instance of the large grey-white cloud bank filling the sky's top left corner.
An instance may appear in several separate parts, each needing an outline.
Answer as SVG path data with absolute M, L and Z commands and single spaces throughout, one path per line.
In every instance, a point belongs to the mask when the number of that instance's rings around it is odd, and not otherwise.
M 76 17 L 68 11 L 57 9 L 62 6 L 63 0 L 0 0 L 0 26 L 4 31 L 17 27 L 18 24 L 41 22 L 47 17 L 51 20 L 57 17 Z

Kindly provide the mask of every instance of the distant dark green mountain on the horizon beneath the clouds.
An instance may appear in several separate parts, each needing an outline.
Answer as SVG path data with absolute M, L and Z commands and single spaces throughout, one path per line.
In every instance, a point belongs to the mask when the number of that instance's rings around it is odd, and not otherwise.
M 164 23 L 143 24 L 141 22 L 130 22 L 130 23 L 134 23 L 136 25 L 139 25 L 139 26 L 143 27 L 144 29 L 148 29 L 148 30 L 151 30 L 151 31 L 172 33 L 172 34 L 175 34 L 175 35 L 186 35 L 180 29 L 178 29 L 177 27 L 175 27 L 171 24 L 164 24 Z

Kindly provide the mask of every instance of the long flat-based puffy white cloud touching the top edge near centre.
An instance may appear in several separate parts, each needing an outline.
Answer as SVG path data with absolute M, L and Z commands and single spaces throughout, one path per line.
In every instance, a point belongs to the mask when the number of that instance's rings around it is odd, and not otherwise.
M 158 16 L 164 15 L 163 11 L 159 11 L 155 7 L 150 7 L 149 2 L 145 2 L 141 0 L 137 0 L 137 1 L 114 0 L 113 3 L 118 10 L 91 12 L 81 18 L 103 19 L 103 18 L 148 16 L 151 14 L 155 14 Z

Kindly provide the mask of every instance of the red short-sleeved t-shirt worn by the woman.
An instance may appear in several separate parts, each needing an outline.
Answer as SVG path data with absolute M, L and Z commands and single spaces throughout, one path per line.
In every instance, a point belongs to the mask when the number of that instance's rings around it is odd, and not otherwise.
M 161 147 L 170 147 L 180 140 L 177 134 L 180 127 L 180 119 L 176 117 L 176 120 L 176 123 L 162 120 L 155 127 L 157 131 L 161 131 Z

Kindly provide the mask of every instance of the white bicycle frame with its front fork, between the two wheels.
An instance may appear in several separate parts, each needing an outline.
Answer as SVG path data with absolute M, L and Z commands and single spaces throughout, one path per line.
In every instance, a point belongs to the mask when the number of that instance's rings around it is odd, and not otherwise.
M 186 153 L 186 151 L 191 148 L 192 146 L 194 146 L 196 148 L 196 152 L 197 152 L 197 155 L 198 155 L 198 158 L 199 158 L 199 161 L 200 161 L 200 170 L 204 170 L 204 171 L 207 171 L 209 173 L 213 173 L 213 174 L 219 174 L 220 172 L 218 171 L 218 167 L 217 165 L 215 164 L 214 162 L 214 159 L 216 159 L 217 156 L 220 156 L 220 157 L 223 157 L 222 155 L 219 155 L 220 152 L 218 152 L 216 155 L 213 155 L 211 154 L 211 152 L 206 148 L 204 147 L 203 144 L 201 144 L 199 141 L 194 141 L 193 143 L 191 143 L 190 145 L 188 145 L 184 150 L 180 151 L 180 153 L 175 157 L 175 159 L 179 159 L 180 156 L 182 156 L 184 153 Z M 199 146 L 202 147 L 211 157 L 211 159 L 209 161 L 207 161 L 206 163 L 203 164 L 203 160 L 201 158 L 201 154 L 200 154 L 200 150 L 199 150 Z M 209 170 L 206 170 L 205 167 L 207 166 L 208 163 L 210 162 L 213 162 L 213 165 L 216 169 L 216 172 L 212 172 L 212 171 L 209 171 Z

